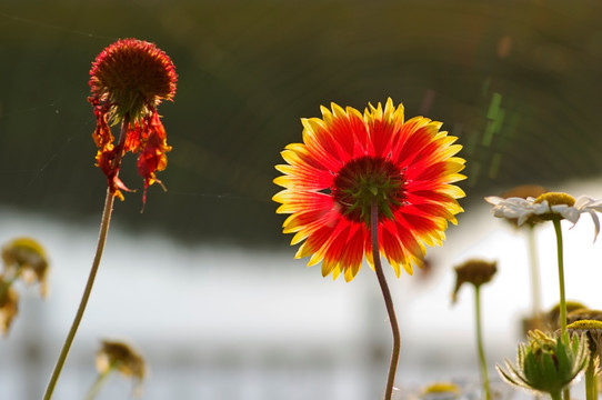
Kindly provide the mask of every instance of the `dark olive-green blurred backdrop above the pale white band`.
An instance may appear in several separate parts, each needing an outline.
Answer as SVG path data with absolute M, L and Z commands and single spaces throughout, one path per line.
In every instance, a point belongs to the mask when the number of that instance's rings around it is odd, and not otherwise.
M 555 188 L 602 170 L 599 1 L 2 1 L 0 204 L 97 222 L 86 99 L 96 56 L 155 42 L 179 73 L 160 112 L 168 187 L 117 204 L 116 223 L 179 238 L 287 243 L 273 166 L 302 117 L 391 97 L 460 137 L 469 194 Z M 141 187 L 133 159 L 123 180 Z M 581 194 L 581 193 L 576 193 Z

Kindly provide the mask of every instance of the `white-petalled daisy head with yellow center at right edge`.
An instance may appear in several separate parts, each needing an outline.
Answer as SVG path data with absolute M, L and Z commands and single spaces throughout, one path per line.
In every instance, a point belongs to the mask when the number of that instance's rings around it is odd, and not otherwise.
M 485 201 L 493 206 L 494 217 L 516 220 L 519 226 L 526 221 L 565 219 L 574 224 L 582 213 L 588 212 L 595 226 L 594 241 L 600 233 L 600 220 L 596 212 L 602 212 L 602 198 L 593 199 L 581 196 L 576 200 L 566 193 L 548 192 L 538 198 L 501 198 L 490 196 Z

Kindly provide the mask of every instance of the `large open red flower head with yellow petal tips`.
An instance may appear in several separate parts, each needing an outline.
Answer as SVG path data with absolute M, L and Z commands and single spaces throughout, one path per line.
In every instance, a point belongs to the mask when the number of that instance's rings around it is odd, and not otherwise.
M 448 222 L 456 223 L 464 192 L 453 183 L 465 160 L 455 137 L 440 122 L 415 117 L 404 121 L 403 106 L 391 99 L 360 111 L 332 104 L 322 118 L 302 119 L 303 143 L 281 152 L 284 188 L 273 197 L 278 213 L 290 213 L 284 233 L 303 242 L 295 258 L 322 262 L 322 274 L 358 273 L 363 258 L 372 263 L 370 210 L 379 211 L 380 253 L 400 276 L 421 266 L 425 244 L 441 244 Z

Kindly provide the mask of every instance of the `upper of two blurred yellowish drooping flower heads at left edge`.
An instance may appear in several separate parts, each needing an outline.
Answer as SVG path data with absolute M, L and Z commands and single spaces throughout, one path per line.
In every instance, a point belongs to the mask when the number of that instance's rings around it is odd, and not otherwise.
M 4 277 L 22 277 L 27 283 L 39 282 L 40 293 L 48 291 L 48 258 L 40 243 L 31 238 L 17 238 L 2 248 Z

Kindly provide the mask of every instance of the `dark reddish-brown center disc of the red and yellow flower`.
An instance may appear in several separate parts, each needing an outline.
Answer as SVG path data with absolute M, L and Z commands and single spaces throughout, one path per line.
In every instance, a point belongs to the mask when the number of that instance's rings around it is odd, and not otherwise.
M 380 157 L 361 157 L 347 162 L 337 173 L 331 191 L 341 213 L 353 222 L 370 223 L 372 201 L 379 220 L 393 218 L 405 200 L 403 171 Z

